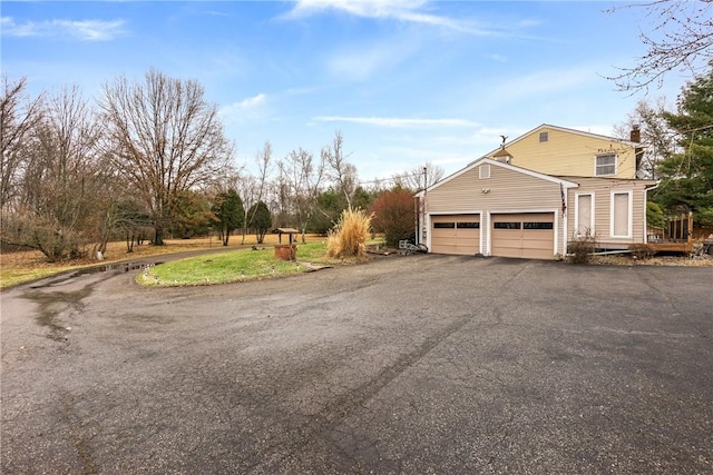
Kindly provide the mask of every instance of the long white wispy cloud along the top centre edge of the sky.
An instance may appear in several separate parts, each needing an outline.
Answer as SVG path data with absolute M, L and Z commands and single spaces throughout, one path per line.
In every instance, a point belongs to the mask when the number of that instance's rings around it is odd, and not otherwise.
M 433 14 L 429 11 L 426 0 L 299 0 L 284 18 L 309 17 L 330 10 L 361 18 L 429 24 L 478 36 L 499 36 L 502 33 L 497 29 L 479 27 L 471 21 Z

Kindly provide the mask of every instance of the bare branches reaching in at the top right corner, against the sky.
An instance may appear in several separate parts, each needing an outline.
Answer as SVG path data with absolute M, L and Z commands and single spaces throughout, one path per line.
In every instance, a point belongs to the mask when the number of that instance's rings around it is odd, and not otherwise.
M 671 71 L 687 70 L 695 75 L 710 67 L 713 61 L 713 3 L 710 0 L 653 0 L 607 11 L 624 8 L 643 8 L 655 26 L 639 34 L 647 52 L 636 58 L 635 66 L 619 68 L 618 76 L 607 78 L 619 90 L 648 90 L 653 83 L 661 86 Z

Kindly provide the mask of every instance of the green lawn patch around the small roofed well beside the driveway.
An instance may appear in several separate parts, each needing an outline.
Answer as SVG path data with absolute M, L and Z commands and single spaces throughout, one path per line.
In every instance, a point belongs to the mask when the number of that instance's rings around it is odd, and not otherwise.
M 326 257 L 326 245 L 297 245 L 297 261 L 275 259 L 272 246 L 260 250 L 240 249 L 175 260 L 150 267 L 136 280 L 147 286 L 196 286 L 227 284 L 287 276 L 310 270 L 305 263 L 330 265 L 341 263 Z

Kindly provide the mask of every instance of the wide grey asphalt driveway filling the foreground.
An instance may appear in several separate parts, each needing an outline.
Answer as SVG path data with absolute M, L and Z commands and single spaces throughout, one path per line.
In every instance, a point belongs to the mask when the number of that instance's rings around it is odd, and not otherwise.
M 713 268 L 4 291 L 2 473 L 711 473 Z

